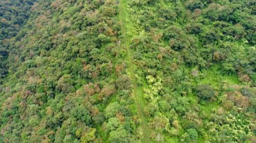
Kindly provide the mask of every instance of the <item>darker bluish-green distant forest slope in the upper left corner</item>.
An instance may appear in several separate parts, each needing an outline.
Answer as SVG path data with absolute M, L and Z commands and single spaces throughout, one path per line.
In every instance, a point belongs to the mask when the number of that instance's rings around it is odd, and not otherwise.
M 30 9 L 37 0 L 0 1 L 0 78 L 7 73 L 8 39 L 15 37 L 30 16 Z M 1 83 L 1 80 L 0 80 Z

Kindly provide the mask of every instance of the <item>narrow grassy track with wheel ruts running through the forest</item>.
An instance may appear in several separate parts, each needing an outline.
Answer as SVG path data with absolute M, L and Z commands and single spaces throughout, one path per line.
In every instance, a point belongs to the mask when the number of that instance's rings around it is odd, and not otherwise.
M 120 0 L 119 1 L 119 7 L 118 7 L 118 18 L 119 21 L 121 23 L 121 32 L 123 34 L 123 44 L 125 46 L 126 49 L 126 54 L 127 54 L 127 62 L 128 62 L 128 70 L 132 79 L 132 83 L 133 83 L 133 90 L 134 90 L 134 100 L 136 102 L 136 106 L 138 109 L 138 116 L 139 116 L 139 120 L 140 120 L 140 124 L 141 124 L 141 128 L 142 128 L 142 141 L 144 143 L 149 143 L 150 142 L 150 137 L 149 137 L 149 130 L 147 127 L 147 121 L 146 118 L 143 114 L 143 101 L 142 101 L 142 94 L 138 89 L 137 83 L 136 83 L 136 78 L 135 78 L 135 74 L 134 74 L 134 65 L 132 62 L 132 51 L 129 47 L 129 42 L 131 41 L 131 38 L 127 36 L 126 32 L 129 31 L 132 33 L 132 29 L 127 29 L 127 25 L 130 24 L 131 27 L 131 23 L 127 22 L 129 19 L 129 17 L 127 17 L 127 11 L 126 11 L 126 6 L 127 6 L 127 1 L 129 0 Z M 130 21 L 131 22 L 131 21 Z

